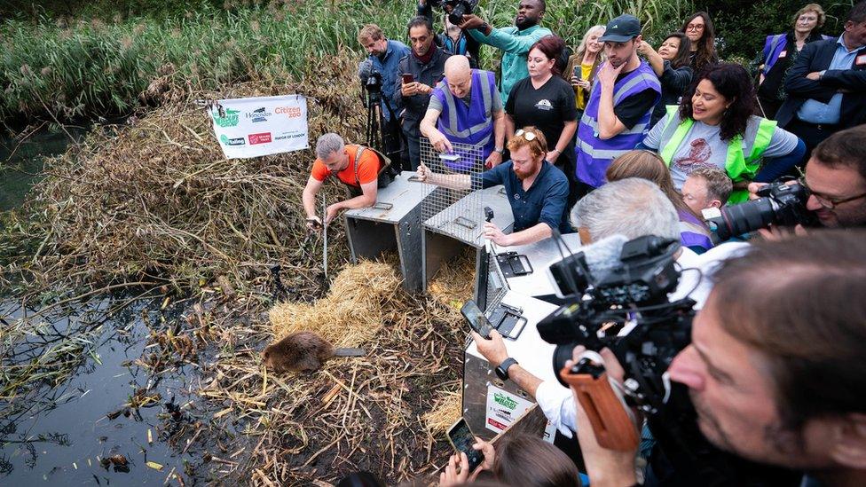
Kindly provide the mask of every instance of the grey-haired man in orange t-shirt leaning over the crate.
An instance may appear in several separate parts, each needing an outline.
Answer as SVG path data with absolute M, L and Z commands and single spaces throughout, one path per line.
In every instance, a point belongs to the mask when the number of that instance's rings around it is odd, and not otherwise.
M 356 161 L 358 152 L 361 152 L 360 161 Z M 301 198 L 310 229 L 322 226 L 322 221 L 316 216 L 316 194 L 328 176 L 336 176 L 349 186 L 349 191 L 355 196 L 328 206 L 325 210 L 326 225 L 343 209 L 366 208 L 375 204 L 379 170 L 382 168 L 382 161 L 375 151 L 368 148 L 362 151 L 360 145 L 345 145 L 342 137 L 327 133 L 316 141 L 316 157 Z

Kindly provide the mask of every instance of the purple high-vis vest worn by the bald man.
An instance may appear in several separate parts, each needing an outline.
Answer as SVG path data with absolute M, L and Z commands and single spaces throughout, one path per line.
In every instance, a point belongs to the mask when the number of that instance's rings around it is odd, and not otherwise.
M 472 70 L 472 87 L 469 89 L 469 105 L 454 98 L 448 89 L 448 79 L 443 78 L 433 90 L 433 95 L 442 104 L 437 129 L 453 143 L 482 145 L 483 159 L 486 161 L 493 152 L 493 93 L 496 91 L 496 78 L 490 71 Z M 459 154 L 460 152 L 457 151 Z M 445 161 L 445 165 L 455 170 L 468 170 L 477 166 L 478 161 L 467 161 L 467 156 L 458 161 Z

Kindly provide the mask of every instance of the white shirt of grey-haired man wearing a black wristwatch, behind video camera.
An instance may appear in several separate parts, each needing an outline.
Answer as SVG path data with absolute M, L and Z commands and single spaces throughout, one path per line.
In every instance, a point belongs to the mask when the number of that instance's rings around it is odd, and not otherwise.
M 697 255 L 682 247 L 682 253 L 677 257 L 682 275 L 677 288 L 668 295 L 671 301 L 680 300 L 686 296 L 695 300 L 695 310 L 704 307 L 707 295 L 712 290 L 712 273 L 721 261 L 737 255 L 742 255 L 749 247 L 745 242 L 726 242 L 712 247 L 704 254 Z M 697 269 L 697 271 L 689 271 Z M 698 272 L 700 271 L 700 272 Z M 576 431 L 577 420 L 575 419 L 574 397 L 571 389 L 564 388 L 556 381 L 543 381 L 535 391 L 535 401 L 539 404 L 547 420 L 553 424 L 564 436 L 571 438 L 572 431 Z

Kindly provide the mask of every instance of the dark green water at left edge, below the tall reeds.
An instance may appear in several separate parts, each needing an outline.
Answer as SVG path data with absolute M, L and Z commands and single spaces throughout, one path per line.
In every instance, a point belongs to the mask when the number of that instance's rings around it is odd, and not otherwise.
M 80 139 L 86 130 L 67 126 L 66 131 L 52 131 L 46 126 L 23 141 L 0 137 L 0 211 L 20 207 L 43 170 L 43 158 L 63 153 L 71 143 L 69 136 Z

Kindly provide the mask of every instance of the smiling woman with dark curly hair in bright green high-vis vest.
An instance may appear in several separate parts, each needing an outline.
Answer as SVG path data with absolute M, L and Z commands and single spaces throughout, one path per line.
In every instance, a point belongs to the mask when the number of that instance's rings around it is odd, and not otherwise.
M 734 181 L 730 202 L 744 201 L 752 179 L 773 181 L 806 153 L 799 137 L 776 127 L 774 121 L 753 115 L 755 105 L 752 80 L 745 68 L 720 63 L 698 75 L 681 105 L 669 106 L 665 118 L 638 148 L 652 149 L 661 156 L 677 189 L 695 169 L 724 169 Z

